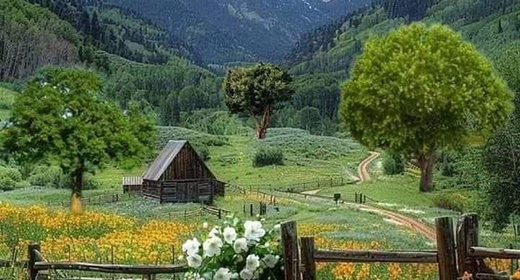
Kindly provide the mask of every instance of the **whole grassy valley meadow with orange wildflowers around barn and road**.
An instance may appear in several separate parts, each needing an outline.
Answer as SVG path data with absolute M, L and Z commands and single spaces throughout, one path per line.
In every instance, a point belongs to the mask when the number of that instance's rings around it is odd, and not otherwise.
M 165 138 L 191 137 L 198 145 L 205 145 L 209 151 L 208 166 L 222 181 L 235 183 L 243 187 L 254 185 L 255 188 L 283 187 L 287 185 L 327 179 L 334 176 L 355 178 L 358 164 L 367 156 L 368 151 L 359 144 L 349 140 L 333 137 L 313 136 L 301 130 L 276 129 L 268 138 L 259 143 L 252 135 L 233 135 L 211 137 L 209 135 L 187 131 L 184 129 L 162 132 Z M 164 139 L 163 139 L 164 140 Z M 283 147 L 284 164 L 266 167 L 253 167 L 252 158 L 261 145 Z M 101 183 L 101 188 L 85 190 L 84 196 L 121 193 L 122 176 L 139 176 L 146 170 L 147 163 L 133 170 L 121 170 L 110 167 L 95 175 Z M 332 196 L 340 193 L 342 198 L 352 198 L 355 193 L 364 193 L 378 201 L 378 207 L 417 217 L 432 223 L 435 217 L 456 216 L 451 211 L 440 210 L 434 206 L 435 194 L 419 192 L 418 179 L 413 174 L 400 176 L 384 176 L 380 162 L 370 166 L 372 181 L 363 184 L 345 184 L 338 187 L 323 187 L 316 190 L 320 195 Z M 301 196 L 278 193 L 276 206 L 269 206 L 266 219 L 267 225 L 277 222 L 294 220 L 298 222 L 300 236 L 314 236 L 316 245 L 324 249 L 374 249 L 395 250 L 412 249 L 431 250 L 435 247 L 424 236 L 389 220 L 376 213 L 361 211 L 357 207 L 345 204 L 336 205 L 333 201 L 305 199 Z M 31 205 L 44 205 L 49 201 L 69 199 L 70 190 L 31 187 L 0 194 L 0 206 L 7 207 L 8 213 L 14 213 L 10 219 L 2 220 L 0 213 L 0 259 L 9 257 L 10 250 L 6 243 L 5 232 L 15 231 L 11 235 L 24 236 L 26 229 L 15 229 L 12 222 L 25 217 L 29 213 L 39 213 L 53 221 L 53 229 L 46 230 L 46 223 L 32 230 L 38 233 L 31 237 L 44 243 L 44 253 L 51 259 L 63 260 L 68 256 L 64 250 L 72 250 L 72 258 L 83 261 L 102 261 L 109 259 L 107 248 L 115 247 L 120 263 L 168 263 L 172 259 L 172 244 L 175 250 L 190 234 L 200 229 L 203 222 L 218 223 L 214 216 L 202 214 L 184 219 L 184 211 L 193 211 L 198 204 L 159 205 L 155 202 L 138 197 L 125 198 L 123 201 L 111 204 L 88 206 L 92 221 L 84 221 L 89 228 L 77 231 L 60 232 L 67 227 L 67 210 L 60 207 L 32 208 Z M 232 211 L 245 219 L 256 219 L 261 196 L 253 194 L 237 194 L 227 192 L 225 197 L 216 200 L 216 206 Z M 6 206 L 5 202 L 9 205 Z M 249 207 L 253 205 L 254 217 L 250 216 Z M 10 207 L 10 208 L 9 208 Z M 244 212 L 244 208 L 247 209 Z M 32 210 L 31 210 L 32 209 Z M 32 211 L 32 212 L 31 212 Z M 26 213 L 26 214 L 23 214 Z M 60 217 L 59 219 L 57 217 Z M 111 220 L 107 225 L 104 220 Z M 56 222 L 56 220 L 61 222 Z M 15 223 L 19 223 L 15 222 Z M 111 226 L 113 225 L 113 226 Z M 129 225 L 133 225 L 129 227 Z M 144 229 L 153 229 L 156 234 L 150 236 L 143 233 Z M 169 230 L 179 230 L 182 234 L 168 235 Z M 3 236 L 2 237 L 2 233 Z M 73 234 L 67 236 L 67 234 Z M 27 240 L 20 238 L 20 244 Z M 27 237 L 29 238 L 29 237 Z M 130 238 L 130 239 L 129 239 Z M 142 239 L 137 243 L 132 238 Z M 483 243 L 486 245 L 504 246 L 500 238 L 510 242 L 513 236 L 483 232 Z M 136 240 L 137 240 L 136 239 Z M 3 240 L 3 241 L 2 241 Z M 25 241 L 24 241 L 25 240 Z M 73 241 L 77 248 L 66 249 L 67 242 Z M 101 244 L 101 246 L 99 245 Z M 135 247 L 137 244 L 137 247 Z M 60 247 L 61 246 L 61 247 Z M 65 246 L 65 247 L 63 247 Z M 107 247 L 109 246 L 109 247 Z M 136 253 L 128 250 L 136 250 Z M 84 252 L 84 253 L 81 253 Z M 177 254 L 180 254 L 177 251 Z M 502 263 L 497 265 L 504 265 Z M 319 279 L 437 279 L 435 266 L 421 265 L 383 265 L 383 264 L 324 264 L 318 267 Z M 2 272 L 0 271 L 0 275 Z M 388 276 L 392 276 L 388 278 Z

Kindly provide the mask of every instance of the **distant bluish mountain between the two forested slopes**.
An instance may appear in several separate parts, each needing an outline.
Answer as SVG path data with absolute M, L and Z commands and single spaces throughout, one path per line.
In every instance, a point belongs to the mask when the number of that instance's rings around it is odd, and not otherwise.
M 106 0 L 183 39 L 205 64 L 280 59 L 300 35 L 372 0 Z

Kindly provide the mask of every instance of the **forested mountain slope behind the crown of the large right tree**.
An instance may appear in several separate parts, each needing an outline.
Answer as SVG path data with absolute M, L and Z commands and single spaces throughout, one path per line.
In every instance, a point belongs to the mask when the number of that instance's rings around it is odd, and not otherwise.
M 368 38 L 416 20 L 450 25 L 491 59 L 520 42 L 520 2 L 516 0 L 379 0 L 341 23 L 305 35 L 290 55 L 292 72 L 346 74 Z

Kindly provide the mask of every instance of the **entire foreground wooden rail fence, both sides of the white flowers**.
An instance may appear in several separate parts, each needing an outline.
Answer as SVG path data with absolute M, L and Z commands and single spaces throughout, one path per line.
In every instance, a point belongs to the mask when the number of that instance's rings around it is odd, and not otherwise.
M 457 227 L 452 218 L 435 221 L 437 250 L 425 251 L 358 251 L 321 250 L 314 245 L 314 237 L 298 238 L 296 222 L 282 224 L 282 246 L 285 280 L 315 280 L 316 263 L 418 263 L 437 264 L 440 280 L 460 279 L 465 273 L 472 279 L 514 279 L 498 275 L 486 266 L 484 259 L 519 259 L 520 250 L 485 248 L 479 246 L 479 225 L 475 214 L 462 216 Z M 120 265 L 83 262 L 49 262 L 40 253 L 38 244 L 28 247 L 28 260 L 16 262 L 27 268 L 29 279 L 35 280 L 43 271 L 89 271 L 123 275 L 145 275 L 149 279 L 156 274 L 184 273 L 184 265 Z M 175 258 L 174 258 L 175 259 Z M 13 266 L 12 261 L 0 261 L 0 266 Z

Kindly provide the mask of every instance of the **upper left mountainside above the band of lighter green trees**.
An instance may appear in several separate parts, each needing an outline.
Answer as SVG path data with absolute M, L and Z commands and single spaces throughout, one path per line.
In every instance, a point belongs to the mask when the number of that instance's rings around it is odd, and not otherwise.
M 0 81 L 45 65 L 106 70 L 102 51 L 149 64 L 200 61 L 188 44 L 129 10 L 89 0 L 0 0 Z

